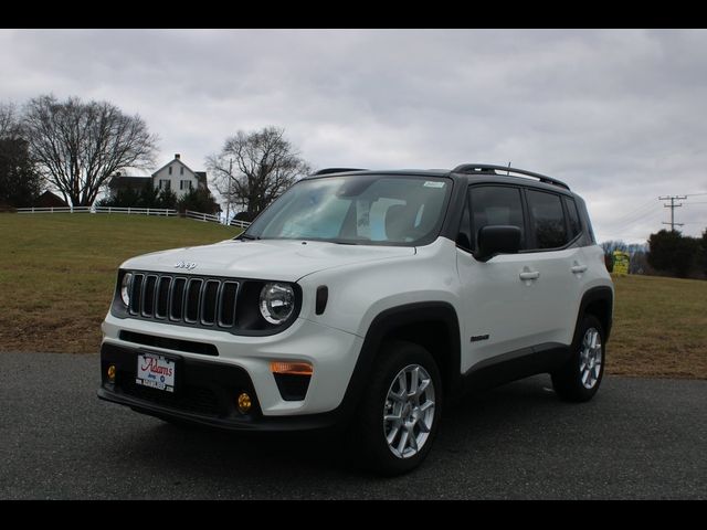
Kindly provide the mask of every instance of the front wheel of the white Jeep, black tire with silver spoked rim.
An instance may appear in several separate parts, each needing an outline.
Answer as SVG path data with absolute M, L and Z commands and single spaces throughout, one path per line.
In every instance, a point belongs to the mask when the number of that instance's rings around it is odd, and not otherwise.
M 381 475 L 411 471 L 430 453 L 440 425 L 440 370 L 424 348 L 394 341 L 383 344 L 371 374 L 355 421 L 352 456 Z M 413 380 L 419 389 L 414 396 Z M 387 436 L 391 437 L 390 445 Z

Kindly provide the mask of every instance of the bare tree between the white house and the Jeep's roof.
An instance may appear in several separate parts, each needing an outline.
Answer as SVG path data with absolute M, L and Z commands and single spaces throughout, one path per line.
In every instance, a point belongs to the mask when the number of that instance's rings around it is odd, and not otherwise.
M 249 221 L 310 171 L 285 139 L 285 130 L 277 127 L 239 130 L 226 138 L 221 152 L 207 157 L 207 166 L 215 173 L 219 193 L 230 202 L 243 203 Z

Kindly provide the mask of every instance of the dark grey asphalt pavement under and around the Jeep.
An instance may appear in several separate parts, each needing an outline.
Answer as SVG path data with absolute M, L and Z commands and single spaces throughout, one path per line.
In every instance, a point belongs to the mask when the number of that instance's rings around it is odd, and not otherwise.
M 0 499 L 707 498 L 707 381 L 547 375 L 447 407 L 418 470 L 354 467 L 336 436 L 180 428 L 96 398 L 98 357 L 0 353 Z

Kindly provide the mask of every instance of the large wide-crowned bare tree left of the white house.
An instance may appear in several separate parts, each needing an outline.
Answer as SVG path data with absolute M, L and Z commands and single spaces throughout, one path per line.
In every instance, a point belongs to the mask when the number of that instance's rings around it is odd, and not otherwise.
M 108 178 L 125 168 L 154 165 L 157 136 L 139 116 L 107 102 L 59 102 L 40 96 L 28 103 L 23 134 L 45 178 L 74 206 L 89 206 Z

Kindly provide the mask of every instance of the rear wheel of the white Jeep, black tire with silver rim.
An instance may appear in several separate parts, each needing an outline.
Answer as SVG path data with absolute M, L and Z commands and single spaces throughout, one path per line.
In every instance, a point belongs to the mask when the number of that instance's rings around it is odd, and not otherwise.
M 551 374 L 555 392 L 564 401 L 591 400 L 601 384 L 605 359 L 604 328 L 597 317 L 585 315 L 574 331 L 569 360 Z

